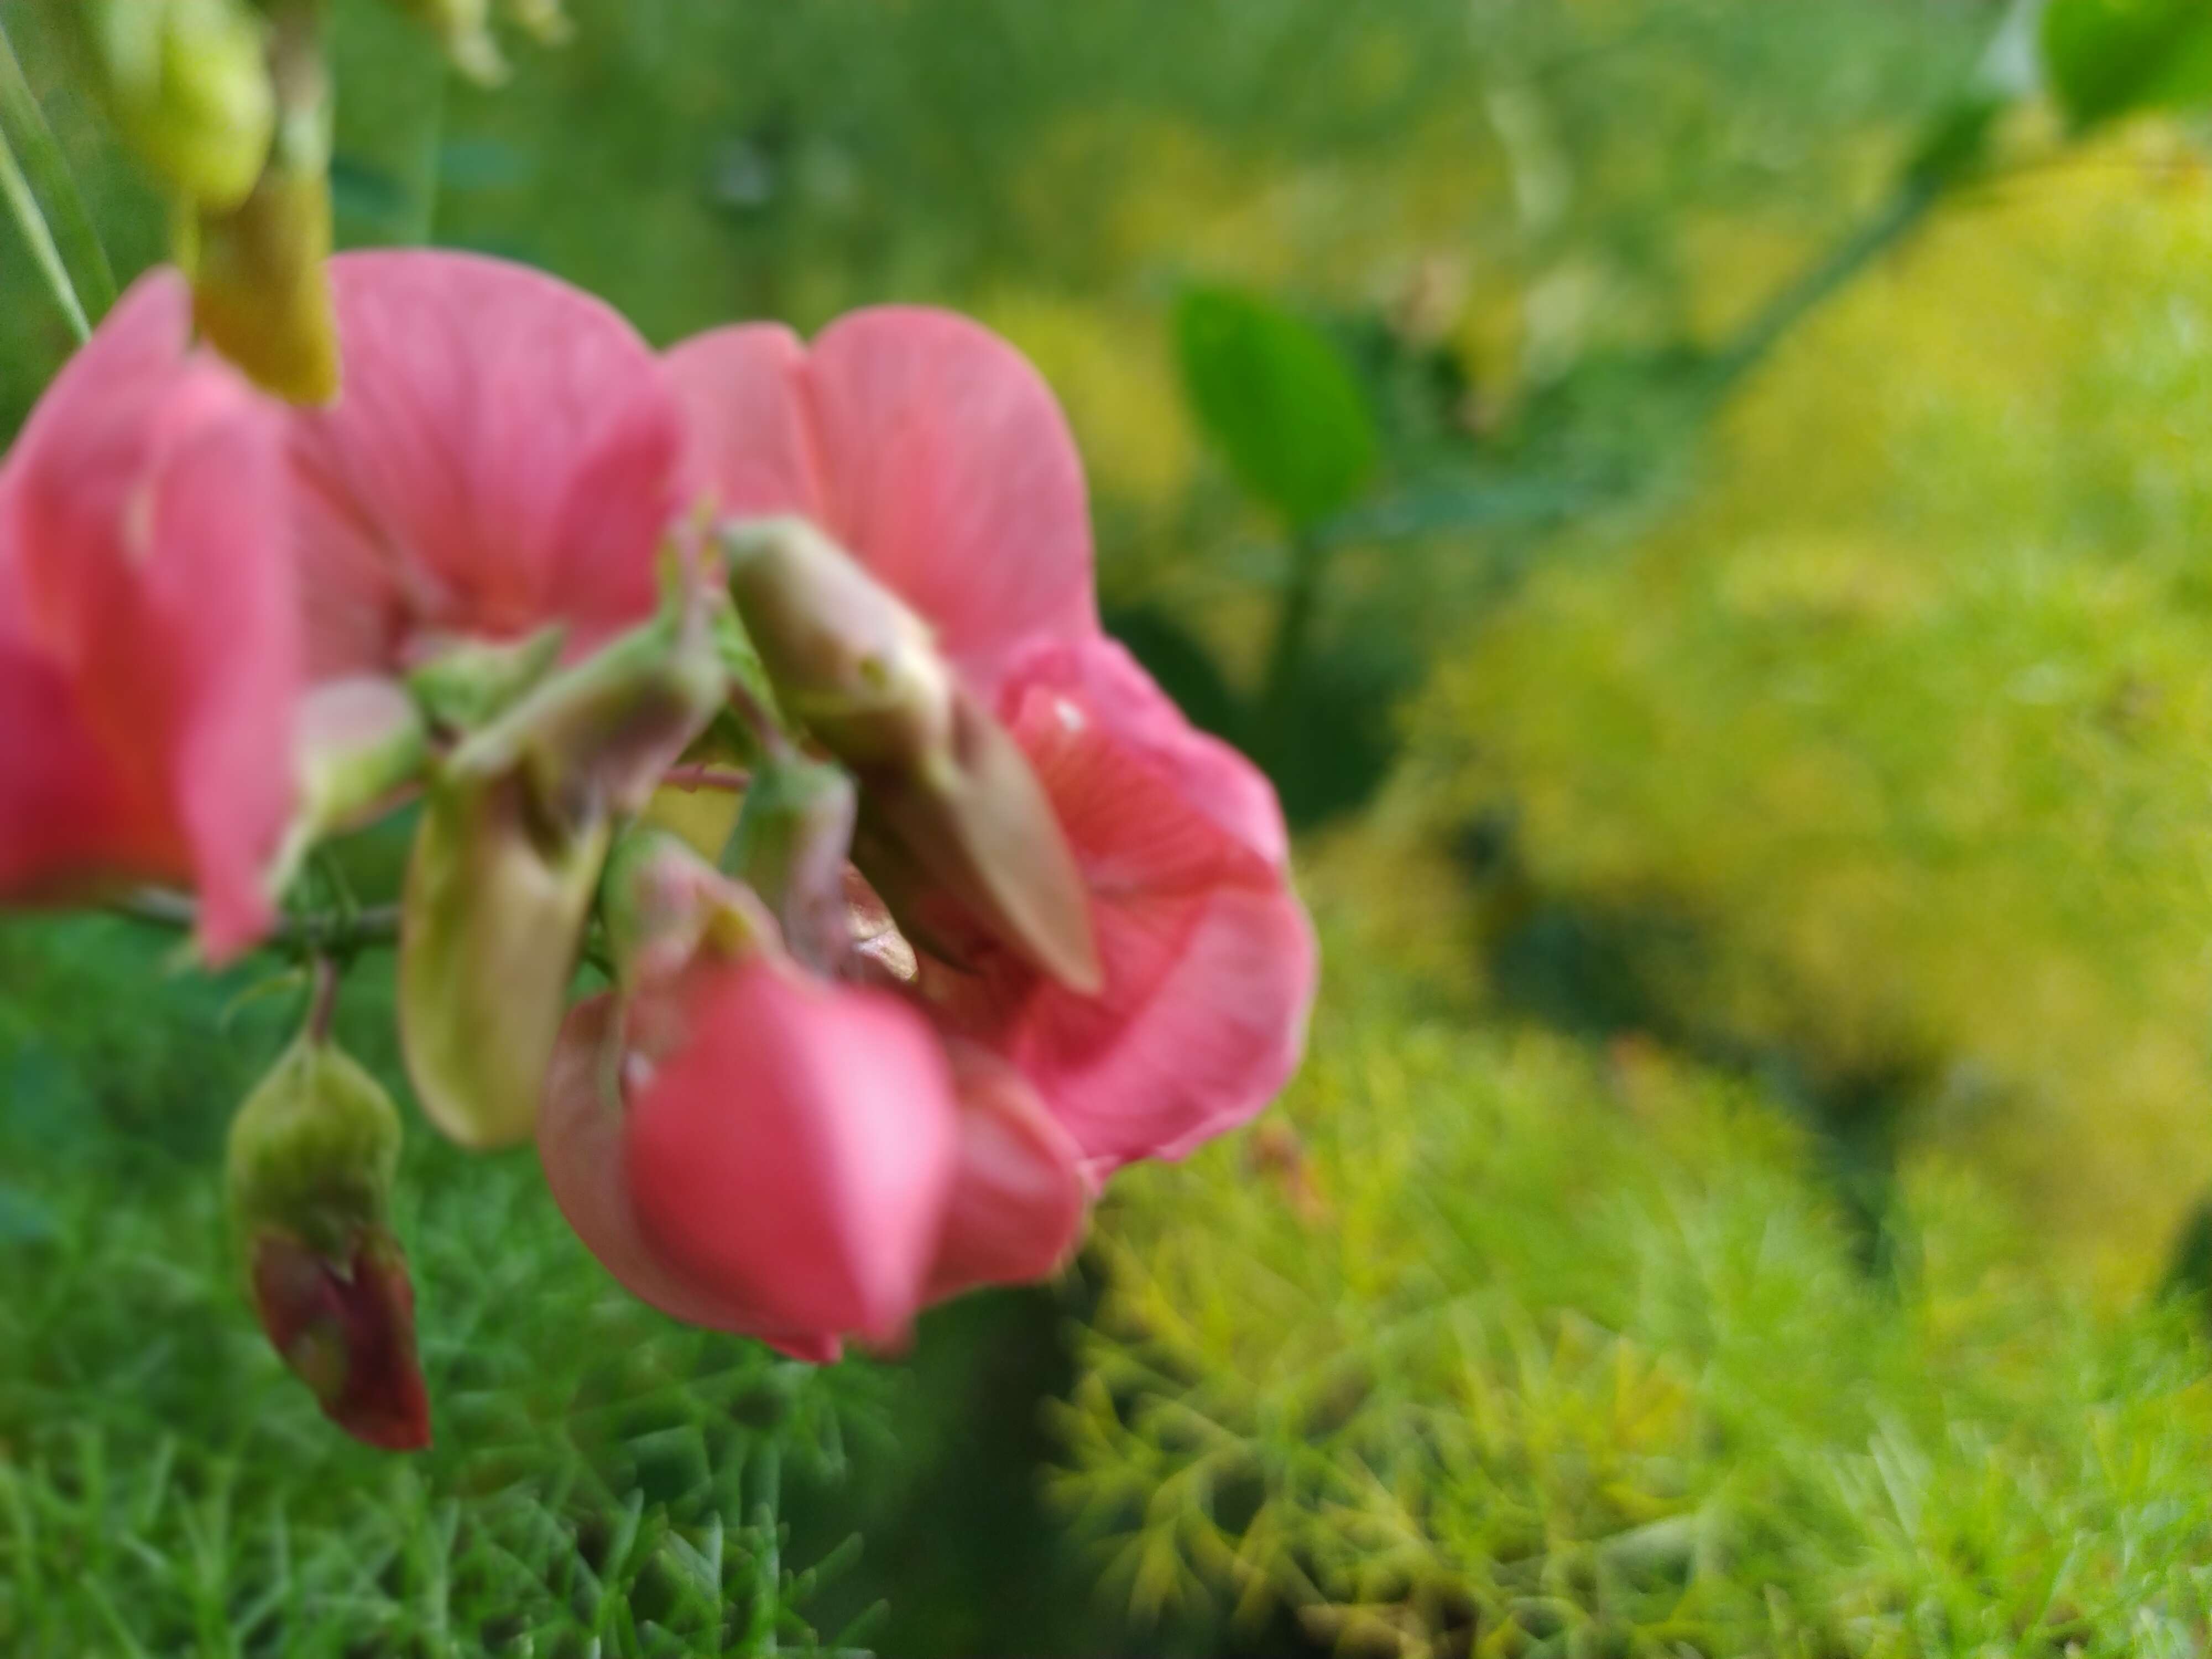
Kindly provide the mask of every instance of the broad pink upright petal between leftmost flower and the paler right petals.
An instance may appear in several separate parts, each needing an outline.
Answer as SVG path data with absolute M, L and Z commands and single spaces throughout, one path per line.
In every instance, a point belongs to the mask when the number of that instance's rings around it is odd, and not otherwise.
M 343 392 L 292 442 L 316 677 L 389 666 L 418 633 L 562 622 L 586 650 L 650 613 L 684 434 L 637 332 L 498 259 L 330 270 Z

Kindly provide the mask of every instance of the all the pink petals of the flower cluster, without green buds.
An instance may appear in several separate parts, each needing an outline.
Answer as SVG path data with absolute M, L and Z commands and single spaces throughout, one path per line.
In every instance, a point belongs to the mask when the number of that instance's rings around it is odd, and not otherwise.
M 1272 1099 L 1316 973 L 1281 812 L 1099 630 L 1082 467 L 1018 352 L 872 310 L 812 345 L 730 327 L 655 356 L 487 259 L 349 254 L 332 279 L 332 407 L 195 347 L 161 272 L 7 458 L 0 900 L 190 887 L 204 949 L 237 953 L 274 920 L 319 695 L 553 624 L 582 657 L 653 613 L 681 524 L 801 515 L 1020 745 L 1099 984 L 978 931 L 876 982 L 701 953 L 630 1006 L 584 1002 L 540 1152 L 593 1252 L 679 1318 L 832 1358 L 1053 1272 L 1104 1177 Z

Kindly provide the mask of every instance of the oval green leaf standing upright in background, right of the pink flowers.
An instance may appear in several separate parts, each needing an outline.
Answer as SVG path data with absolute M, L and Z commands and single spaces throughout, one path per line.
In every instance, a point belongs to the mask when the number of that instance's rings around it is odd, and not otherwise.
M 1321 330 L 1252 294 L 1194 288 L 1175 345 L 1190 405 L 1245 489 L 1301 529 L 1358 495 L 1374 414 Z

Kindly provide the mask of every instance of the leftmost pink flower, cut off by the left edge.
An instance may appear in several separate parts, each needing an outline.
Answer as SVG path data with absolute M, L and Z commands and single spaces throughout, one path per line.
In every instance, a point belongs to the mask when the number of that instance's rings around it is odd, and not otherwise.
M 210 956 L 270 922 L 301 624 L 276 405 L 139 281 L 0 471 L 0 898 L 199 889 Z

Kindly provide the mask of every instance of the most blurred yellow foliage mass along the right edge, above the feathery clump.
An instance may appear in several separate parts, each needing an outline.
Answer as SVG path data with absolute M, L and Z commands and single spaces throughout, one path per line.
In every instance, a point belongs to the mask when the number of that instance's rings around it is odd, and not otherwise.
M 2132 144 L 1938 226 L 1498 604 L 1405 807 L 1502 1002 L 1971 1155 L 2112 1287 L 2212 1188 L 2205 184 Z

